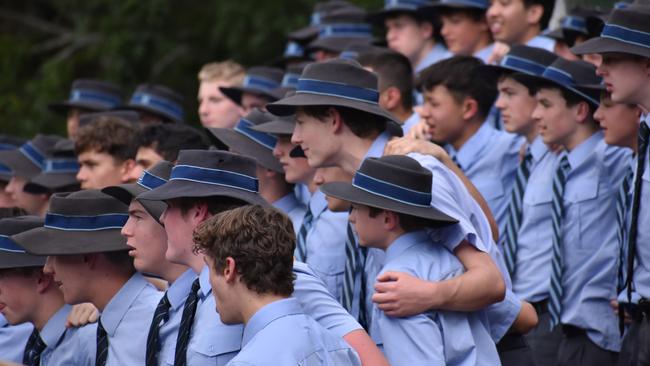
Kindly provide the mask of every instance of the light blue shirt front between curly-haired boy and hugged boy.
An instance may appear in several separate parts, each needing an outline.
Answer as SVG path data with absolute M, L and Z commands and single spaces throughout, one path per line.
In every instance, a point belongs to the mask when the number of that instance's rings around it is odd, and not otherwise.
M 348 213 L 328 210 L 327 200 L 320 190 L 312 195 L 309 208 L 314 219 L 307 232 L 307 264 L 339 299 L 345 272 Z

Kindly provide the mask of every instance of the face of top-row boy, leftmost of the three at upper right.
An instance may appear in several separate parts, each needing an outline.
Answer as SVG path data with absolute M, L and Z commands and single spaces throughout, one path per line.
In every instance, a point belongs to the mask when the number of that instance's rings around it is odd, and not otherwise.
M 388 48 L 397 51 L 409 60 L 417 60 L 433 36 L 433 26 L 427 22 L 419 23 L 409 15 L 398 15 L 386 19 L 386 42 Z

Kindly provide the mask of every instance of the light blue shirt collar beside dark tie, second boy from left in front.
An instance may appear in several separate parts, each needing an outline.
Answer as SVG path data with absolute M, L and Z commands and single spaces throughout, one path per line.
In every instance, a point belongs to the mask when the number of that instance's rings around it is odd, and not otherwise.
M 122 319 L 129 311 L 129 308 L 135 300 L 138 298 L 138 295 L 149 283 L 140 273 L 134 273 L 131 278 L 122 286 L 122 288 L 113 296 L 111 301 L 102 312 L 101 322 L 106 330 L 108 336 L 113 336 L 115 330 L 122 322 Z

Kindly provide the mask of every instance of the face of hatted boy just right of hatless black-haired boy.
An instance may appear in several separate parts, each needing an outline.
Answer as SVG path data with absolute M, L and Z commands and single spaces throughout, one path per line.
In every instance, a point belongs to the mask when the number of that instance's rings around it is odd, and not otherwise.
M 531 118 L 537 100 L 528 93 L 528 88 L 510 77 L 499 80 L 499 96 L 494 105 L 501 112 L 503 128 L 510 132 L 527 136 L 536 129 Z

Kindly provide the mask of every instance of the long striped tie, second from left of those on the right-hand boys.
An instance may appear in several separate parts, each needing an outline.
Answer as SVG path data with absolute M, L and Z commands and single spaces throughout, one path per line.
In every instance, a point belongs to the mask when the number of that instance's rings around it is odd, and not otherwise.
M 548 310 L 551 315 L 551 329 L 560 324 L 562 314 L 562 219 L 564 218 L 564 185 L 566 176 L 571 166 L 565 156 L 560 160 L 560 165 L 553 178 L 553 257 L 551 259 L 551 286 Z

